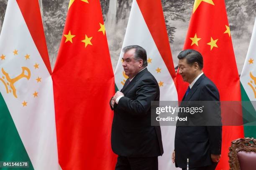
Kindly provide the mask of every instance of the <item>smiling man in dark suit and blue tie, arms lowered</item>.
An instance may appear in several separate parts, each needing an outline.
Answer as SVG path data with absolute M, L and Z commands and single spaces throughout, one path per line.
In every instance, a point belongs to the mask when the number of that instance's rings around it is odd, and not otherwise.
M 184 50 L 179 53 L 178 59 L 179 74 L 189 83 L 182 99 L 183 105 L 186 101 L 212 101 L 202 115 L 207 115 L 208 120 L 215 120 L 215 124 L 199 126 L 192 120 L 194 126 L 179 126 L 177 122 L 172 162 L 175 162 L 176 167 L 187 170 L 189 159 L 189 170 L 215 170 L 221 156 L 222 141 L 219 92 L 215 84 L 202 72 L 203 57 L 200 52 Z

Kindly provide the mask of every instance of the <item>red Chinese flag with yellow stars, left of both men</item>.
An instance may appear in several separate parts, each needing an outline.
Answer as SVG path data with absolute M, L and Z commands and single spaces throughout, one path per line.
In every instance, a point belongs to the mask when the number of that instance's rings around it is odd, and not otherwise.
M 62 170 L 113 170 L 115 82 L 99 0 L 70 0 L 52 78 Z

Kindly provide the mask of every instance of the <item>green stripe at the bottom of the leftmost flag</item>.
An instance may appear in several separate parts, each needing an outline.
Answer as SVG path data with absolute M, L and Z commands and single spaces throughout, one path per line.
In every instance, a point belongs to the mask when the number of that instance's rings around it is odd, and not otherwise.
M 16 113 L 19 114 L 19 113 Z M 24 122 L 26 123 L 26 122 Z M 29 132 L 27 132 L 29 133 Z M 29 168 L 0 168 L 1 170 L 33 170 L 28 153 L 20 139 L 8 107 L 0 93 L 0 161 L 26 161 Z M 33 140 L 33 139 L 31 139 Z

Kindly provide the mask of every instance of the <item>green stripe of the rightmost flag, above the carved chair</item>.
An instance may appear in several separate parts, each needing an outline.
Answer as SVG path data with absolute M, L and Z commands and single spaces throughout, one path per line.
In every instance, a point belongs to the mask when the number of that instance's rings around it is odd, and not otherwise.
M 256 125 L 256 111 L 251 104 L 251 101 L 246 94 L 246 91 L 243 88 L 242 83 L 241 86 L 241 99 L 242 99 L 242 106 L 243 106 L 243 123 L 244 125 L 244 137 L 248 138 L 256 138 L 256 126 L 249 126 L 246 125 L 248 122 L 253 122 Z M 248 123 L 249 124 L 249 123 Z

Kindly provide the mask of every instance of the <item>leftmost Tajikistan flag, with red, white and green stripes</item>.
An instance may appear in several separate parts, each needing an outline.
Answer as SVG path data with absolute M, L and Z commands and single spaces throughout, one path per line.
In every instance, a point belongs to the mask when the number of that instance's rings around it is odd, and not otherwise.
M 0 161 L 58 169 L 50 74 L 38 0 L 8 0 L 0 34 Z

